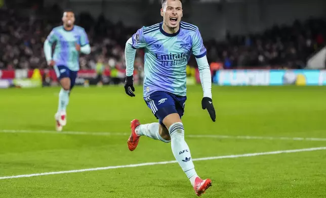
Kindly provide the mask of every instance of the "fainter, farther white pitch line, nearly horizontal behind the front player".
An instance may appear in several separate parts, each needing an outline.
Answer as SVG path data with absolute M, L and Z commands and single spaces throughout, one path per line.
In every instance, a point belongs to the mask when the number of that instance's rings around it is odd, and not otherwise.
M 130 133 L 117 133 L 117 132 L 86 132 L 86 131 L 50 131 L 50 130 L 12 130 L 0 129 L 0 133 L 50 133 L 50 134 L 71 134 L 71 135 L 117 135 L 129 136 Z M 295 140 L 295 141 L 326 141 L 326 138 L 319 137 L 267 137 L 267 136 L 232 136 L 232 135 L 191 135 L 186 137 L 190 138 L 217 138 L 217 139 L 264 139 L 264 140 Z

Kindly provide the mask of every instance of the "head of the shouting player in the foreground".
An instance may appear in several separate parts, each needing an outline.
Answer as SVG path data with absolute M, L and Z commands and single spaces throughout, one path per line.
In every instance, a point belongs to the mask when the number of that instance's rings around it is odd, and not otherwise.
M 169 28 L 177 28 L 182 14 L 182 3 L 179 0 L 168 0 L 161 8 L 163 21 Z

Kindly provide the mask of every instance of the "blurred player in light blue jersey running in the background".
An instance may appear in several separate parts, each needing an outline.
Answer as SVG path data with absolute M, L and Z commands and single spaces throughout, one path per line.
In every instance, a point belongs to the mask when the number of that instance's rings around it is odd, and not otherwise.
M 74 25 L 72 11 L 63 13 L 62 26 L 55 27 L 44 42 L 44 54 L 49 66 L 54 67 L 62 86 L 59 92 L 59 106 L 55 114 L 56 129 L 61 131 L 67 123 L 66 108 L 69 95 L 79 70 L 79 52 L 91 53 L 91 47 L 84 28 Z M 56 43 L 52 57 L 52 44 Z

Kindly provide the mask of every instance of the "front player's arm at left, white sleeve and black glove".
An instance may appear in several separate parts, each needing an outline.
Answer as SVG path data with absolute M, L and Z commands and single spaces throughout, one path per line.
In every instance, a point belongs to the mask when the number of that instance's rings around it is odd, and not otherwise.
M 129 38 L 126 42 L 125 47 L 125 60 L 126 60 L 126 81 L 125 81 L 125 91 L 126 93 L 133 97 L 135 96 L 134 91 L 134 62 L 136 56 L 136 50 L 132 47 L 133 40 Z

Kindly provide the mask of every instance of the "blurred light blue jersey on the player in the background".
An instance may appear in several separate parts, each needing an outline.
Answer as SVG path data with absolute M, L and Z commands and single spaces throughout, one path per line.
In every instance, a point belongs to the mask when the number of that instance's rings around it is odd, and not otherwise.
M 66 66 L 71 71 L 79 70 L 79 52 L 76 51 L 75 44 L 89 44 L 84 28 L 74 25 L 73 29 L 67 31 L 63 26 L 58 26 L 53 28 L 47 40 L 51 45 L 56 42 L 53 55 L 56 66 Z

